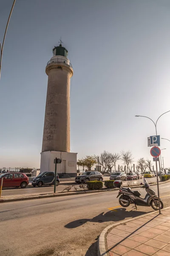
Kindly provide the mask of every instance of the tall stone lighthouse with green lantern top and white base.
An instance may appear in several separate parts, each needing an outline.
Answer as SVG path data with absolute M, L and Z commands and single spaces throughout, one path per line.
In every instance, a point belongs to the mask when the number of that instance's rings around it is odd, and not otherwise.
M 70 152 L 70 79 L 73 68 L 67 55 L 68 50 L 60 41 L 45 69 L 48 87 L 40 172 L 54 172 L 54 159 L 61 158 L 62 163 L 57 165 L 59 177 L 77 176 L 77 153 Z

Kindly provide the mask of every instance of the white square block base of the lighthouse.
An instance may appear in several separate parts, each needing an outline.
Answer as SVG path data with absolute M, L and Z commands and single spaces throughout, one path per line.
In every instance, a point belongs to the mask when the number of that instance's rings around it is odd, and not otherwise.
M 77 176 L 77 153 L 62 151 L 45 151 L 41 152 L 40 172 L 55 172 L 55 158 L 62 159 L 57 164 L 57 174 L 61 177 Z

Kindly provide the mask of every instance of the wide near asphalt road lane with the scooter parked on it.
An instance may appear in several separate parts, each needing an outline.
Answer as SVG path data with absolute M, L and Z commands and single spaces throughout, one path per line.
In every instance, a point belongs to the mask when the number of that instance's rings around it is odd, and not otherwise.
M 139 190 L 144 196 L 145 190 Z M 120 207 L 117 194 L 100 192 L 0 204 L 0 255 L 97 256 L 97 239 L 105 227 L 152 211 L 151 207 L 138 207 L 137 211 L 132 206 Z M 160 195 L 164 207 L 170 206 L 170 183 L 160 185 Z

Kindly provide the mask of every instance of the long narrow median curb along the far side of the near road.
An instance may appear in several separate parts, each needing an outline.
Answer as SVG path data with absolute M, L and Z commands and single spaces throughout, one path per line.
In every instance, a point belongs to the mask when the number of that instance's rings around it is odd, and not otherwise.
M 170 182 L 170 180 L 166 180 L 161 184 L 165 184 Z M 149 183 L 150 186 L 155 186 L 157 183 Z M 131 188 L 135 189 L 135 188 L 140 188 L 141 185 L 132 185 L 130 186 Z M 125 186 L 128 187 L 128 186 Z M 7 203 L 7 202 L 15 202 L 15 201 L 25 201 L 25 200 L 33 200 L 33 199 L 42 199 L 42 198 L 51 198 L 51 197 L 60 197 L 60 196 L 66 196 L 66 195 L 82 195 L 82 194 L 89 194 L 89 193 L 99 193 L 99 192 L 110 192 L 110 191 L 116 191 L 119 190 L 119 188 L 115 188 L 115 189 L 101 189 L 101 190 L 82 190 L 82 191 L 74 191 L 74 192 L 63 192 L 63 193 L 59 193 L 59 194 L 54 194 L 54 193 L 47 193 L 47 194 L 40 194 L 40 195 L 32 195 L 32 196 L 27 196 L 27 197 L 21 197 L 21 198 L 7 198 L 7 199 L 0 199 L 0 203 Z

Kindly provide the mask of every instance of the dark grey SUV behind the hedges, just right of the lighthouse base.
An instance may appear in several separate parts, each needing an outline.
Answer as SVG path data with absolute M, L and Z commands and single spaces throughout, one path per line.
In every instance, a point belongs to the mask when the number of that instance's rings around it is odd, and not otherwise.
M 87 182 L 87 181 L 93 181 L 93 180 L 99 180 L 103 181 L 103 175 L 100 172 L 84 172 L 82 175 L 79 175 L 75 178 L 75 182 L 81 183 L 81 182 Z

